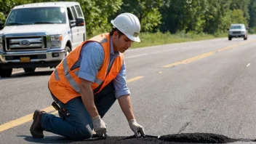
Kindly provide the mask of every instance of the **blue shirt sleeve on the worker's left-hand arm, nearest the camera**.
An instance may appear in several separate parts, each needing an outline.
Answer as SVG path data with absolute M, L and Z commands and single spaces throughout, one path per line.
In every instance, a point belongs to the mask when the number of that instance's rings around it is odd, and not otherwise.
M 94 82 L 104 60 L 103 47 L 97 42 L 89 42 L 83 46 L 81 52 L 79 78 Z

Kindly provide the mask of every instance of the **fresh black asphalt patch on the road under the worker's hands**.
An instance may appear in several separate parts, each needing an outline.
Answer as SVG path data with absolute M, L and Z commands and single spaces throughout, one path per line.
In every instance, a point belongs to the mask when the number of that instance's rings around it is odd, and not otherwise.
M 146 137 L 108 137 L 108 139 L 94 137 L 84 140 L 86 143 L 233 143 L 236 141 L 251 141 L 244 139 L 232 139 L 224 135 L 211 133 L 182 133 L 175 135 L 162 135 Z

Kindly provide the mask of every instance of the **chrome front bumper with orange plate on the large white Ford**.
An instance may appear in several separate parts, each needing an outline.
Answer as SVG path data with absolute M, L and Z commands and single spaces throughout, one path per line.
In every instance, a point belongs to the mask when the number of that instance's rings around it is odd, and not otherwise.
M 65 50 L 33 53 L 0 53 L 0 68 L 56 67 L 63 58 L 65 58 Z

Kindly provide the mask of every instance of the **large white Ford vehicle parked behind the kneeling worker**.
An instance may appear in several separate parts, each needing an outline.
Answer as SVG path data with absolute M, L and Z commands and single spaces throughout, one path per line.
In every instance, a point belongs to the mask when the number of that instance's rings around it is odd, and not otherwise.
M 71 1 L 14 7 L 0 30 L 1 77 L 11 76 L 12 68 L 54 68 L 86 39 L 80 4 Z

